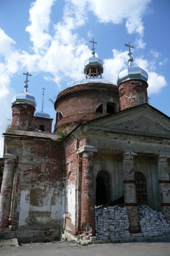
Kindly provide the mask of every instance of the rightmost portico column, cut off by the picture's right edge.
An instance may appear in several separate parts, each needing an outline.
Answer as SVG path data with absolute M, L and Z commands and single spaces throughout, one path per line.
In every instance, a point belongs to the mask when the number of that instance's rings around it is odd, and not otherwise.
M 170 180 L 167 157 L 170 157 L 170 155 L 160 155 L 158 157 L 158 180 L 161 209 L 170 224 Z

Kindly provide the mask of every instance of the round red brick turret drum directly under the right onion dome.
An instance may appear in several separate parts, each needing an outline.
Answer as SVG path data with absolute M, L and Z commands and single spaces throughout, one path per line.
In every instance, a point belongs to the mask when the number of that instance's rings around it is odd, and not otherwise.
M 120 110 L 148 103 L 148 84 L 141 80 L 128 80 L 119 85 Z

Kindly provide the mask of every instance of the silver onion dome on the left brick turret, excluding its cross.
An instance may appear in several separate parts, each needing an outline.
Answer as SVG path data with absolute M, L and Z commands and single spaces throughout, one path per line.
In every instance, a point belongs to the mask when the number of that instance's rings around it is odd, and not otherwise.
M 28 84 L 24 84 L 24 91 L 23 92 L 18 92 L 17 94 L 15 94 L 12 99 L 11 99 L 11 103 L 12 105 L 15 104 L 26 104 L 26 105 L 30 105 L 33 106 L 34 108 L 37 105 L 37 102 L 34 98 L 34 96 L 30 93 L 28 93 Z

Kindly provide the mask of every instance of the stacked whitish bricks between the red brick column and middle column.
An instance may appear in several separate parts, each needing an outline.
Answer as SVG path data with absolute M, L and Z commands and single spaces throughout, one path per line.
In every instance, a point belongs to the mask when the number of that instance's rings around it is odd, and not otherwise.
M 95 230 L 97 240 L 130 237 L 126 208 L 117 205 L 103 209 L 95 207 Z

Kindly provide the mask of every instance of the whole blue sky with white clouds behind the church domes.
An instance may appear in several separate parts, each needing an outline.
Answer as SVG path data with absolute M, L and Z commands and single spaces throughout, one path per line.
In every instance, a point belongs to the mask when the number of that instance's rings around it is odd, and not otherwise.
M 103 4 L 104 3 L 104 4 Z M 2 0 L 0 1 L 0 133 L 11 119 L 11 98 L 28 92 L 41 110 L 54 118 L 48 100 L 85 77 L 84 61 L 103 60 L 103 78 L 116 83 L 119 71 L 128 65 L 127 47 L 134 45 L 133 64 L 148 73 L 150 105 L 170 116 L 169 0 Z M 0 137 L 0 156 L 3 138 Z

